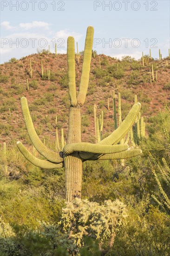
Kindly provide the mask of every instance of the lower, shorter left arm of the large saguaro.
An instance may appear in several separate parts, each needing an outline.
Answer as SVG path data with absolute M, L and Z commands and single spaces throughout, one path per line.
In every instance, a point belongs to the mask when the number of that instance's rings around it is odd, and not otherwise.
M 41 160 L 37 157 L 34 157 L 27 149 L 24 147 L 24 145 L 18 141 L 17 147 L 19 148 L 20 152 L 24 157 L 31 163 L 33 163 L 35 166 L 38 166 L 40 168 L 45 169 L 56 169 L 56 168 L 62 168 L 64 167 L 64 162 L 61 163 L 52 163 L 46 160 Z

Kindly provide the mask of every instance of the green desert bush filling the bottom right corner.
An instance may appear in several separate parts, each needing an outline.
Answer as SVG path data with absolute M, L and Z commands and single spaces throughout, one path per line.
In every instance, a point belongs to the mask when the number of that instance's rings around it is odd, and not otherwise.
M 136 201 L 136 202 L 135 202 Z M 140 202 L 129 198 L 127 222 L 118 230 L 107 256 L 170 254 L 170 217 L 150 206 L 149 198 Z

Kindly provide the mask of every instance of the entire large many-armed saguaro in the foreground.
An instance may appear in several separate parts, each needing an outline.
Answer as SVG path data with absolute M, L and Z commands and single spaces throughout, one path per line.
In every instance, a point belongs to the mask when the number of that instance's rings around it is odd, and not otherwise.
M 78 94 L 75 80 L 75 42 L 72 36 L 67 40 L 68 87 L 70 109 L 68 117 L 67 142 L 63 149 L 55 152 L 44 145 L 39 139 L 34 127 L 25 97 L 21 98 L 21 107 L 28 135 L 34 147 L 46 160 L 32 157 L 23 144 L 17 146 L 26 159 L 40 168 L 55 169 L 65 167 L 66 200 L 72 201 L 81 197 L 83 162 L 87 160 L 125 159 L 141 154 L 140 149 L 128 150 L 128 145 L 117 145 L 124 138 L 139 113 L 141 104 L 136 103 L 121 125 L 105 139 L 96 144 L 81 142 L 81 108 L 85 103 L 88 89 L 90 64 L 92 58 L 93 27 L 87 28 L 82 74 Z

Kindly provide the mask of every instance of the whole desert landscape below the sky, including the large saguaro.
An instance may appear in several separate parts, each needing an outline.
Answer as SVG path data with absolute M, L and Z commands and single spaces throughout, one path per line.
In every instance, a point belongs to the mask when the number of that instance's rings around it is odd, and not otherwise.
M 1 65 L 1 256 L 170 255 L 170 55 L 92 36 Z

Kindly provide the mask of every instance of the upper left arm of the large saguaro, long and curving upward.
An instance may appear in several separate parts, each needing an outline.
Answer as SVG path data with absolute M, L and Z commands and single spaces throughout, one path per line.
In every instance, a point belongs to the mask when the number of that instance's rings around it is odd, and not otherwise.
M 47 148 L 43 142 L 39 139 L 39 136 L 37 135 L 34 127 L 33 127 L 33 121 L 29 112 L 27 100 L 25 97 L 21 98 L 21 107 L 22 107 L 22 113 L 24 117 L 24 121 L 26 124 L 26 129 L 28 132 L 28 135 L 34 145 L 34 147 L 37 149 L 40 155 L 43 155 L 46 157 L 47 160 L 54 163 L 63 162 L 63 158 L 59 155 L 58 152 L 52 151 L 51 149 Z

